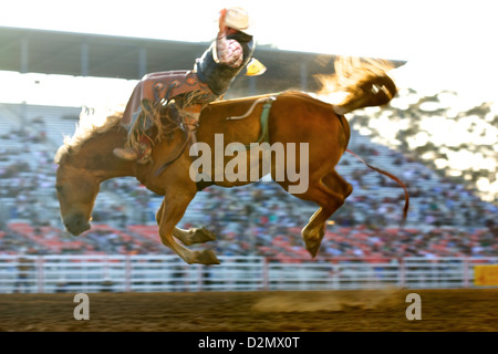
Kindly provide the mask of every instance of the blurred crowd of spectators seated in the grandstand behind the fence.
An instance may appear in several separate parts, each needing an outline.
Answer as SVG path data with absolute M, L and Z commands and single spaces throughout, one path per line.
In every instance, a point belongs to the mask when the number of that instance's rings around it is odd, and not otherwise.
M 42 124 L 42 118 L 37 119 Z M 132 178 L 103 184 L 101 194 L 112 194 L 113 201 L 100 205 L 97 200 L 93 218 L 96 226 L 79 238 L 69 236 L 60 225 L 58 208 L 46 207 L 56 206 L 55 150 L 38 149 L 37 144 L 46 139 L 44 134 L 33 139 L 18 133 L 0 137 L 23 142 L 22 152 L 0 150 L 0 254 L 21 250 L 30 254 L 170 253 L 157 235 L 151 236 L 156 231 L 154 215 L 160 197 Z M 407 185 L 408 219 L 401 228 L 403 189 L 344 155 L 338 171 L 354 191 L 328 221 L 319 257 L 498 257 L 496 202 L 483 201 L 471 185 L 437 175 L 407 152 L 371 142 L 361 142 L 354 148 L 369 163 L 381 164 Z M 25 156 L 32 159 L 23 159 Z M 230 189 L 209 187 L 193 200 L 179 227 L 205 226 L 215 232 L 218 239 L 201 247 L 217 254 L 302 258 L 309 254 L 301 229 L 317 209 L 270 181 Z M 147 232 L 131 228 L 134 225 L 143 225 Z

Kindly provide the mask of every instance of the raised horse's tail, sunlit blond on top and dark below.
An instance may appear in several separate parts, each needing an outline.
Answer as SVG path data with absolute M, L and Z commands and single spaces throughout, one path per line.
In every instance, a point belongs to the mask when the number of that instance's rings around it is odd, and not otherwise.
M 335 74 L 320 75 L 323 88 L 319 95 L 331 97 L 335 113 L 387 104 L 397 93 L 387 75 L 394 66 L 382 60 L 338 56 Z

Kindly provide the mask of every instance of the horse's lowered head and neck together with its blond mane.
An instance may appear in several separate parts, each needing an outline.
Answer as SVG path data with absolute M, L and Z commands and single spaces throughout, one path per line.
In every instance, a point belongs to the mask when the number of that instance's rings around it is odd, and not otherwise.
M 121 115 L 107 116 L 100 124 L 94 121 L 97 117 L 82 115 L 73 137 L 64 139 L 54 157 L 59 165 L 55 188 L 62 221 L 75 236 L 90 229 L 101 183 L 112 177 L 131 176 L 129 164 L 112 154 L 125 136 L 125 131 L 118 128 Z

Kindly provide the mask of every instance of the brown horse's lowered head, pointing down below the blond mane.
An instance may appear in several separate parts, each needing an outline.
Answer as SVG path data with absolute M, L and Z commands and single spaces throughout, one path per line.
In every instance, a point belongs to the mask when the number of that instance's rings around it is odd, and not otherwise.
M 77 236 L 90 229 L 100 183 L 92 171 L 71 165 L 59 165 L 55 188 L 62 221 L 72 235 Z

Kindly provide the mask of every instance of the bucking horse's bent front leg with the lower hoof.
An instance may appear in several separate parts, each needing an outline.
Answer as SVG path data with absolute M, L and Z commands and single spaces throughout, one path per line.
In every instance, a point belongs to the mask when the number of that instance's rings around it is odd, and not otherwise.
M 159 236 L 163 243 L 174 250 L 188 264 L 219 264 L 219 260 L 210 250 L 191 251 L 179 244 L 173 237 L 176 223 L 181 219 L 193 197 L 186 194 L 176 194 L 175 198 L 163 200 L 159 210 L 156 214 L 159 226 Z

